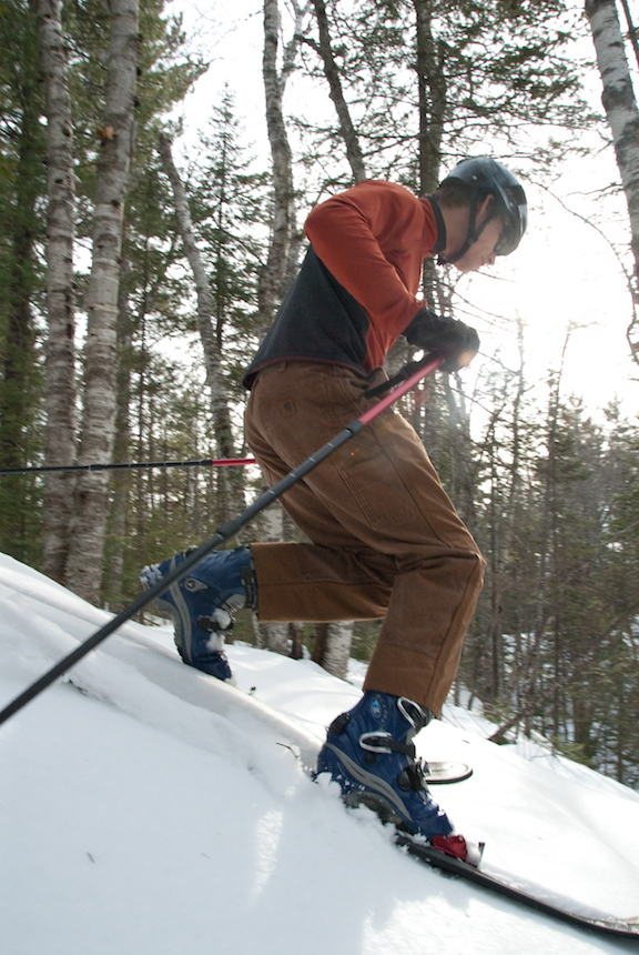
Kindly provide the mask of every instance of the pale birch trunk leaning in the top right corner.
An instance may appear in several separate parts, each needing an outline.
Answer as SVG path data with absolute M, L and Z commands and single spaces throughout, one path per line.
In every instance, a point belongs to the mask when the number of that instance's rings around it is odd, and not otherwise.
M 635 361 L 639 364 L 639 111 L 615 0 L 586 0 L 585 9 L 604 86 L 601 102 L 612 133 L 630 218 L 630 245 L 635 260 L 631 286 L 635 314 L 628 328 L 628 343 Z

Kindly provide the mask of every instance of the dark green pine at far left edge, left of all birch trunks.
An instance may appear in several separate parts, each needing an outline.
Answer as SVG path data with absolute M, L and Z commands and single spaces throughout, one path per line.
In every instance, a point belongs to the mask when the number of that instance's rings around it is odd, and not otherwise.
M 45 169 L 34 4 L 0 7 L 0 464 L 39 463 L 41 324 L 40 197 Z M 0 549 L 34 561 L 40 487 L 32 476 L 0 479 Z

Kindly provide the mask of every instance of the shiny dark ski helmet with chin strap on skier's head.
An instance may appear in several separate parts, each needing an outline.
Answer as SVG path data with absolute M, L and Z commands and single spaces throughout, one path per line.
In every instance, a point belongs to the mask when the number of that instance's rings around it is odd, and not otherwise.
M 497 160 L 488 155 L 479 155 L 476 159 L 465 159 L 448 175 L 442 180 L 442 185 L 450 179 L 460 179 L 468 185 L 474 185 L 479 193 L 495 197 L 495 215 L 504 222 L 504 232 L 495 247 L 496 255 L 509 255 L 514 252 L 528 223 L 528 204 L 526 193 L 518 179 L 501 165 Z M 476 210 L 476 202 L 474 209 Z M 475 217 L 473 215 L 468 239 L 463 250 L 448 261 L 456 261 L 464 255 L 473 242 L 479 238 L 475 230 Z

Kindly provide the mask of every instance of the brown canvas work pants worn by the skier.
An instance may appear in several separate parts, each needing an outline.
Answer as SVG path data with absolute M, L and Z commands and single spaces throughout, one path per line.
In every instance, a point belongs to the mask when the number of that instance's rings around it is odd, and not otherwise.
M 306 362 L 260 372 L 245 433 L 268 484 L 371 408 L 382 378 Z M 364 688 L 439 715 L 485 563 L 413 428 L 388 409 L 282 504 L 313 543 L 252 545 L 260 620 L 383 617 Z

